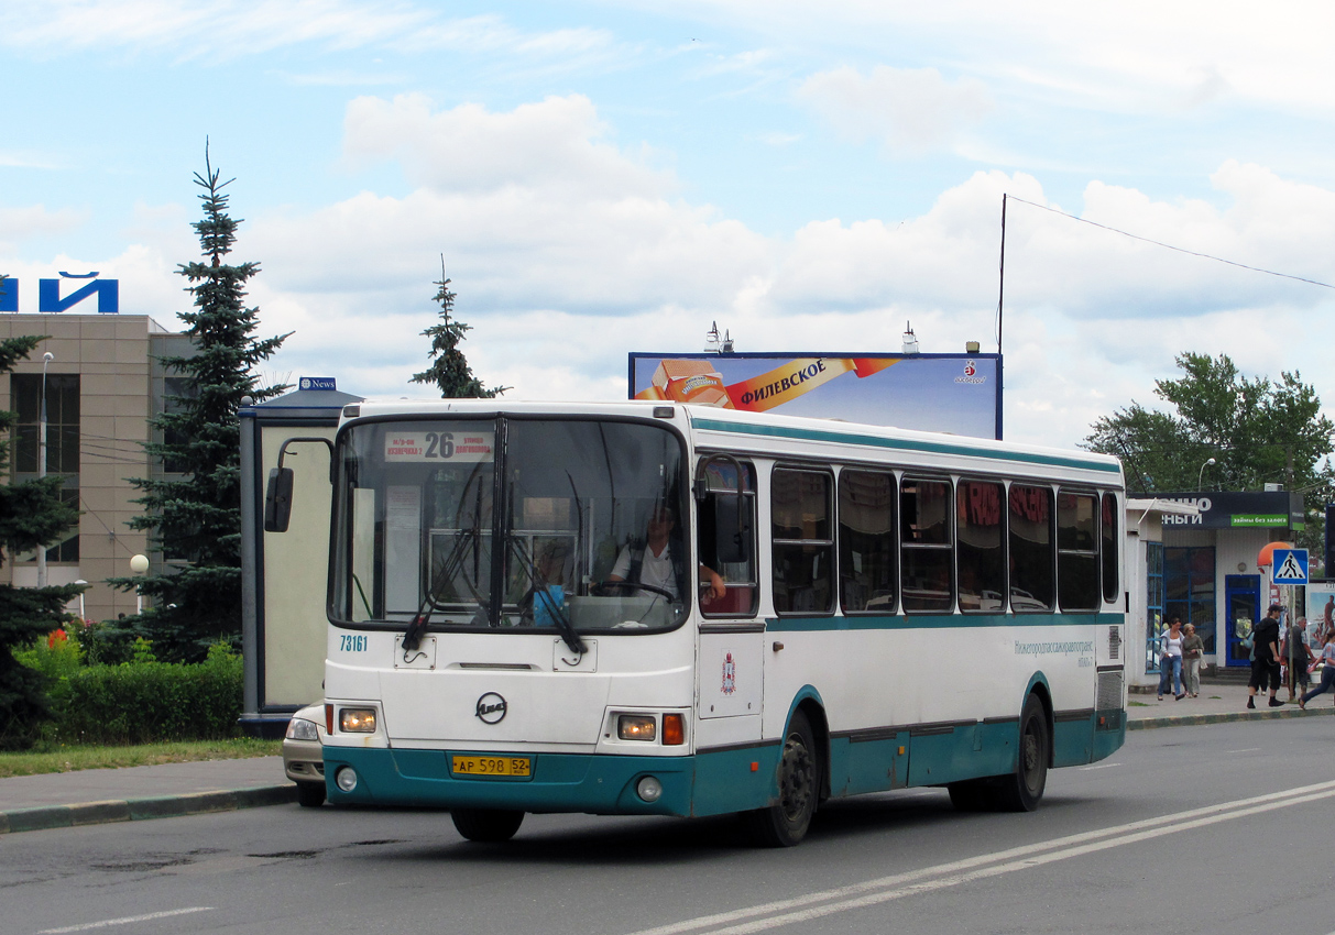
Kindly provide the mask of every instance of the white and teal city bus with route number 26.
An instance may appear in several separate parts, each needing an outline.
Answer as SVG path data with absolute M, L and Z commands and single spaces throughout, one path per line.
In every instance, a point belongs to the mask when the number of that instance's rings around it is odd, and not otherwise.
M 286 474 L 286 478 L 284 478 Z M 335 804 L 1032 810 L 1125 738 L 1119 463 L 661 403 L 364 401 L 334 443 Z M 266 527 L 286 528 L 291 472 Z M 300 496 L 300 491 L 296 491 Z

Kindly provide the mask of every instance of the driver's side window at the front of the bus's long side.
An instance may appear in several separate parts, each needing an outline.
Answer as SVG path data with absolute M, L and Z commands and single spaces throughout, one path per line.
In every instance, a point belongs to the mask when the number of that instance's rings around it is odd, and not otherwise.
M 760 583 L 756 579 L 756 470 L 742 463 L 742 495 L 737 496 L 737 470 L 726 460 L 712 461 L 705 470 L 706 492 L 698 506 L 700 527 L 696 548 L 706 568 L 724 579 L 725 596 L 701 600 L 705 616 L 756 616 Z M 736 516 L 736 519 L 733 519 Z M 741 531 L 741 555 L 720 556 L 720 527 Z M 737 559 L 725 562 L 724 559 Z

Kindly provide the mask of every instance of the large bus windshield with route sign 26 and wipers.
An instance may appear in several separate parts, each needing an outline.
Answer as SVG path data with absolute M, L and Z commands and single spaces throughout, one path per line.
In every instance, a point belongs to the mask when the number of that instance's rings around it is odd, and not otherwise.
M 689 610 L 682 441 L 577 419 L 367 421 L 339 443 L 330 618 L 653 631 Z

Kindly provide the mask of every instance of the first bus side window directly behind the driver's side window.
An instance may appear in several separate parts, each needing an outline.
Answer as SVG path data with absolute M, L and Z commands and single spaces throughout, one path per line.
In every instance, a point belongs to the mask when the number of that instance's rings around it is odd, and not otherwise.
M 834 479 L 824 471 L 774 468 L 769 483 L 774 611 L 829 614 L 834 610 Z

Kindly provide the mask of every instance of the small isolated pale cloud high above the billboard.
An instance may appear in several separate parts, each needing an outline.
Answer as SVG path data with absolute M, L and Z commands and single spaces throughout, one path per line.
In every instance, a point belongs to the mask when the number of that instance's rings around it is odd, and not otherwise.
M 975 79 L 947 81 L 934 68 L 889 65 L 866 76 L 848 67 L 812 75 L 797 97 L 845 136 L 878 139 L 889 153 L 948 147 L 992 105 Z

